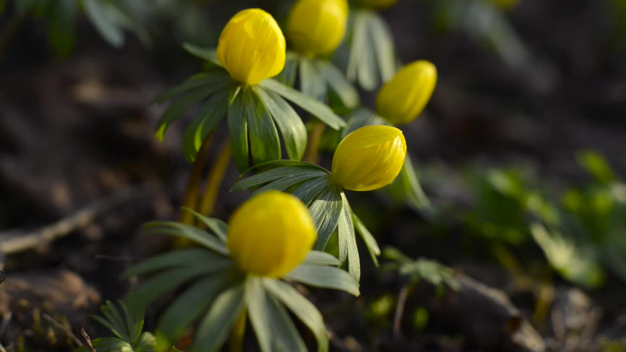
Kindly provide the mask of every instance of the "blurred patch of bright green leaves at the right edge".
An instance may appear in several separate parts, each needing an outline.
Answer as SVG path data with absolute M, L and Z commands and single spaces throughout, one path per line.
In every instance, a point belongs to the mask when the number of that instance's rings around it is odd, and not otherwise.
M 592 181 L 555 201 L 518 170 L 474 175 L 466 229 L 514 246 L 533 242 L 559 274 L 582 286 L 600 286 L 603 267 L 626 280 L 626 185 L 598 153 L 579 153 L 578 163 Z

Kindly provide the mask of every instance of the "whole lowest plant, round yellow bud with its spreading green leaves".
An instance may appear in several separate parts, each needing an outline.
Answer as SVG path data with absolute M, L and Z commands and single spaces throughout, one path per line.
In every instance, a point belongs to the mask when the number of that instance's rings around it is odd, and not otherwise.
M 158 272 L 134 291 L 144 303 L 185 285 L 157 324 L 157 350 L 168 351 L 196 321 L 190 351 L 219 351 L 229 334 L 231 350 L 240 350 L 249 319 L 261 351 L 307 351 L 290 311 L 312 331 L 317 350 L 328 351 L 321 314 L 282 279 L 354 295 L 359 294 L 359 285 L 337 268 L 335 257 L 310 251 L 316 229 L 305 205 L 274 190 L 248 200 L 228 225 L 195 215 L 213 234 L 180 222 L 147 227 L 185 237 L 198 247 L 153 257 L 124 274 Z

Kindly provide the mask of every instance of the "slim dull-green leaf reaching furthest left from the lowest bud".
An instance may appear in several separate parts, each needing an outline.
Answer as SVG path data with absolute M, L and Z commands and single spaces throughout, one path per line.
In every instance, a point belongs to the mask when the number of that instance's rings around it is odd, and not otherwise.
M 177 251 L 166 252 L 159 256 L 150 257 L 139 264 L 135 264 L 126 269 L 121 274 L 121 277 L 128 279 L 128 277 L 131 276 L 148 274 L 171 267 L 192 267 L 196 266 L 198 263 L 210 264 L 207 265 L 207 269 L 213 269 L 213 271 L 220 271 L 233 264 L 230 258 L 213 251 L 207 251 L 206 249 L 178 249 Z

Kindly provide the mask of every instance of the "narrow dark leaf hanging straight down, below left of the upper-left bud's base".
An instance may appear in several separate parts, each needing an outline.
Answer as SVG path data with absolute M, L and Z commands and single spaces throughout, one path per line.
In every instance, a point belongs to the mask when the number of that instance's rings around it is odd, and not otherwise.
M 233 147 L 233 158 L 239 172 L 244 172 L 249 165 L 248 147 L 248 107 L 244 95 L 237 94 L 228 107 L 228 136 Z

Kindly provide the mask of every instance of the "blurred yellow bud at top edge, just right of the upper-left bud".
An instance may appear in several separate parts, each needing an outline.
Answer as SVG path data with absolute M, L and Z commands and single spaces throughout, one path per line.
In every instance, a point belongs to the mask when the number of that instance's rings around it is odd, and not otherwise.
M 289 13 L 287 37 L 307 56 L 329 54 L 346 33 L 347 0 L 299 0 Z

